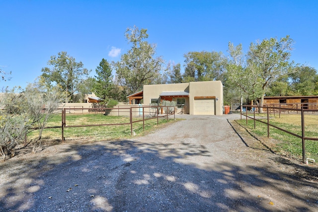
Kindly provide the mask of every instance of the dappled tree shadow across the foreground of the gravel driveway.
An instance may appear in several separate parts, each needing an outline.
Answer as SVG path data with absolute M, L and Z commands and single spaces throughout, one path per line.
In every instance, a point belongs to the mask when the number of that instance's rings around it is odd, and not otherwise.
M 189 156 L 208 158 L 211 152 L 193 143 L 177 148 L 173 143 L 138 141 L 69 144 L 42 161 L 31 158 L 12 164 L 20 169 L 7 173 L 9 181 L 0 184 L 0 211 L 318 209 L 315 182 L 278 172 L 270 164 L 225 161 L 198 168 L 182 162 Z M 286 165 L 288 161 L 275 163 Z M 8 168 L 5 163 L 0 166 Z

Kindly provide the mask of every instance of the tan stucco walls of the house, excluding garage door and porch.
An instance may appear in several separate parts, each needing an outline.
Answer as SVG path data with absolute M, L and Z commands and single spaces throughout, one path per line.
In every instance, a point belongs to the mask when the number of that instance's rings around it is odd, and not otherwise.
M 223 114 L 223 84 L 221 81 L 204 81 L 177 84 L 144 85 L 144 105 L 150 105 L 151 99 L 159 98 L 163 91 L 189 91 L 189 98 L 185 98 L 186 113 L 194 114 L 195 96 L 215 96 L 215 115 Z M 172 99 L 176 101 L 176 98 Z

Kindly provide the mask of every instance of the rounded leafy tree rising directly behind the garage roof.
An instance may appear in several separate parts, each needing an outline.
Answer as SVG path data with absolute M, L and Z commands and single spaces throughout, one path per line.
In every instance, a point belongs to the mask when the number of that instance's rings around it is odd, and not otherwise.
M 221 52 L 189 52 L 184 54 L 186 81 L 208 81 L 220 79 L 223 72 Z

